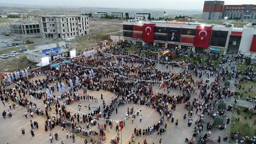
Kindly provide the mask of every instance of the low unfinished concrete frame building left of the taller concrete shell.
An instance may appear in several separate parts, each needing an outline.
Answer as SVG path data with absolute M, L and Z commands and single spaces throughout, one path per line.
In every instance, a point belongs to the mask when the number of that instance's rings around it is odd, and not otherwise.
M 39 34 L 38 22 L 12 22 L 9 24 L 12 33 L 16 34 Z

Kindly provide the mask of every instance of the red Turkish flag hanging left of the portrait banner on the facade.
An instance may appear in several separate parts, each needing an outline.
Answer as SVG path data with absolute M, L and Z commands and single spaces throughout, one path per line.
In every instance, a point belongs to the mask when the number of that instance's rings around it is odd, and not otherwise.
M 156 24 L 143 24 L 142 26 L 142 40 L 144 42 L 154 42 L 154 30 Z

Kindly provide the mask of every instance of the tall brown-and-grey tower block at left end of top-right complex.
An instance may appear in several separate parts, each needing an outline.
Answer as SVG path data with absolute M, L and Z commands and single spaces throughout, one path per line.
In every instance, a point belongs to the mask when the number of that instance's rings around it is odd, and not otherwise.
M 204 1 L 203 20 L 219 20 L 222 16 L 224 1 Z

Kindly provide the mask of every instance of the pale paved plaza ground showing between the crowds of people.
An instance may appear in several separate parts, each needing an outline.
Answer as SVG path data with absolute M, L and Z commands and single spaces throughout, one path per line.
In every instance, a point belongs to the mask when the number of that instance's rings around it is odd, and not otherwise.
M 156 66 L 156 68 L 158 70 L 162 70 L 162 71 L 169 71 L 169 69 L 167 69 L 166 67 L 162 67 L 162 64 L 158 64 Z M 171 70 L 172 72 L 182 72 L 184 69 L 180 69 L 178 71 L 179 68 L 174 67 L 174 70 Z M 34 78 L 33 80 L 36 79 L 42 79 L 44 78 L 44 75 L 39 76 Z M 202 79 L 205 81 L 206 77 L 203 76 Z M 196 80 L 198 80 L 198 78 L 196 78 Z M 212 82 L 214 80 L 214 76 L 210 77 L 210 82 Z M 232 78 L 232 81 L 234 81 L 234 78 Z M 234 88 L 234 86 L 232 85 L 234 82 L 231 82 L 231 86 L 230 88 Z M 52 84 L 53 85 L 53 84 Z M 223 85 L 223 82 L 221 82 L 221 85 Z M 153 87 L 153 90 L 157 90 L 158 88 L 158 84 L 155 85 Z M 68 88 L 66 88 L 68 89 Z M 162 93 L 166 93 L 166 91 L 164 91 L 163 89 L 160 89 L 159 92 Z M 78 91 L 77 93 L 81 93 L 82 94 L 82 90 Z M 59 92 L 55 91 L 56 96 L 58 96 Z M 95 102 L 90 102 L 90 101 L 81 101 L 80 103 L 82 104 L 82 112 L 84 113 L 89 113 L 90 111 L 88 110 L 88 108 L 84 107 L 84 106 L 88 106 L 88 104 L 90 104 L 92 106 L 92 110 L 94 108 L 97 108 L 98 106 L 102 106 L 102 100 L 100 100 L 100 95 L 103 94 L 103 98 L 106 102 L 106 105 L 110 104 L 110 100 L 111 98 L 114 96 L 113 93 L 111 92 L 106 92 L 103 90 L 100 91 L 88 91 L 88 94 L 91 96 L 94 96 L 96 98 L 98 98 L 98 103 Z M 172 90 L 170 92 L 170 94 L 173 95 L 179 95 L 181 94 L 178 91 L 174 91 Z M 191 97 L 191 100 L 195 97 L 198 97 L 198 95 L 193 95 Z M 31 100 L 31 98 L 29 96 L 27 96 L 27 98 L 29 100 Z M 202 101 L 202 99 L 200 99 Z M 38 108 L 44 109 L 44 104 L 42 102 L 42 100 L 32 100 L 32 102 L 37 104 Z M 233 99 L 226 99 L 225 102 L 227 102 L 227 104 L 230 104 L 232 102 L 234 102 Z M 69 111 L 76 113 L 78 110 L 78 104 L 79 102 L 76 102 L 72 105 L 70 105 L 70 108 L 68 108 Z M 242 102 L 239 102 L 239 104 L 243 104 Z M 142 130 L 144 128 L 148 128 L 148 126 L 152 126 L 153 124 L 156 124 L 158 122 L 158 119 L 160 118 L 160 115 L 152 108 L 148 107 L 148 106 L 143 106 L 143 105 L 134 105 L 134 104 L 126 104 L 125 106 L 122 106 L 120 108 L 118 108 L 118 114 L 116 114 L 116 112 L 113 112 L 111 119 L 122 119 L 124 118 L 124 114 L 127 110 L 127 108 L 131 108 L 132 106 L 134 106 L 134 110 L 136 110 L 137 108 L 141 109 L 142 112 L 140 112 L 140 114 L 142 114 L 143 119 L 142 122 L 139 122 L 139 118 L 138 116 L 136 117 L 136 119 L 134 120 L 134 124 L 132 124 L 131 120 L 126 120 L 126 125 L 124 126 L 124 129 L 122 131 L 122 144 L 128 144 L 129 140 L 130 140 L 130 136 L 133 134 L 133 130 L 134 128 L 141 128 Z M 3 110 L 9 110 L 10 108 L 8 106 L 3 106 L 2 104 L 0 105 L 0 112 L 2 112 Z M 37 116 L 36 114 L 34 114 L 34 118 L 30 118 L 30 116 L 28 116 L 28 118 L 26 119 L 23 114 L 24 111 L 26 109 L 18 106 L 18 108 L 16 108 L 15 110 L 11 110 L 13 116 L 12 118 L 6 118 L 4 119 L 3 117 L 0 118 L 0 122 L 2 123 L 0 125 L 1 130 L 3 130 L 4 132 L 0 135 L 0 139 L 2 140 L 2 144 L 14 144 L 14 143 L 28 143 L 28 144 L 34 144 L 34 143 L 38 143 L 38 144 L 49 144 L 50 140 L 49 140 L 49 134 L 50 131 L 48 130 L 47 132 L 44 131 L 44 122 L 45 119 L 42 116 Z M 217 110 L 216 108 L 214 110 Z M 53 114 L 55 111 L 52 110 L 51 114 Z M 177 104 L 176 106 L 176 110 L 173 112 L 175 118 L 174 121 L 176 119 L 179 120 L 179 125 L 175 126 L 174 123 L 167 121 L 167 118 L 165 118 L 165 123 L 167 123 L 167 130 L 166 132 L 164 132 L 162 134 L 162 136 L 157 135 L 156 133 L 150 135 L 150 136 L 142 136 L 142 137 L 135 137 L 135 142 L 138 143 L 142 143 L 142 141 L 144 140 L 144 138 L 147 139 L 147 142 L 152 144 L 152 142 L 154 142 L 155 144 L 158 144 L 160 138 L 162 138 L 162 143 L 163 144 L 168 144 L 168 143 L 172 143 L 172 141 L 177 144 L 183 143 L 185 138 L 190 138 L 193 128 L 194 128 L 194 122 L 198 119 L 197 115 L 193 115 L 192 119 L 193 119 L 193 123 L 192 126 L 188 127 L 187 126 L 187 120 L 183 120 L 183 115 L 185 113 L 188 113 L 187 110 L 184 109 L 184 104 Z M 228 117 L 231 118 L 231 112 L 226 111 L 225 115 L 227 115 Z M 32 121 L 37 121 L 39 124 L 39 129 L 38 130 L 34 130 L 35 133 L 35 137 L 32 138 L 31 134 L 30 134 L 30 120 Z M 203 132 L 200 133 L 201 136 L 203 136 L 206 133 L 206 123 L 207 122 L 213 122 L 213 119 L 210 116 L 205 116 L 205 123 L 204 123 L 204 130 Z M 98 122 L 100 124 L 104 124 L 104 121 L 102 120 L 98 120 Z M 81 124 L 82 127 L 85 127 L 84 124 Z M 114 125 L 115 126 L 115 125 Z M 21 134 L 21 129 L 24 128 L 26 134 L 22 135 Z M 95 130 L 96 132 L 98 132 L 98 127 L 97 126 L 90 126 L 90 128 L 92 130 Z M 214 128 L 212 130 L 212 137 L 214 137 L 217 140 L 218 136 L 221 136 L 223 138 L 224 134 L 228 133 L 230 129 L 230 124 L 227 125 L 225 130 L 220 131 L 218 128 Z M 66 130 L 70 130 L 70 129 L 66 129 Z M 56 126 L 53 131 L 51 131 L 52 134 L 54 134 L 55 132 L 58 132 L 59 135 L 59 139 L 58 141 L 53 140 L 54 144 L 58 144 L 63 140 L 64 144 L 71 144 L 72 143 L 72 139 L 66 139 L 66 130 L 62 131 L 62 129 L 59 126 Z M 115 128 L 112 128 L 110 130 L 110 132 L 106 132 L 106 143 L 109 144 L 111 138 L 115 138 L 116 137 L 117 132 L 115 131 Z M 120 134 L 121 135 L 121 134 Z M 76 137 L 76 143 L 78 144 L 82 144 L 83 140 L 85 139 L 85 136 L 80 136 L 80 137 Z M 198 138 L 198 137 L 196 137 Z M 88 137 L 86 138 L 88 139 Z M 224 141 L 222 141 L 222 143 L 224 143 Z

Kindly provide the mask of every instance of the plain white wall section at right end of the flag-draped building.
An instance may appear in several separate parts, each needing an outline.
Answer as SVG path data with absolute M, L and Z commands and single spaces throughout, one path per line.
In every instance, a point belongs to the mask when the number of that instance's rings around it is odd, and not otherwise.
M 253 35 L 256 34 L 256 28 L 244 28 L 239 46 L 238 54 L 244 54 L 245 56 L 251 56 L 255 59 L 256 52 L 250 52 Z

